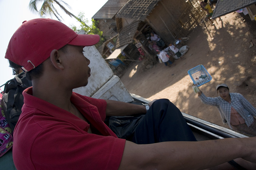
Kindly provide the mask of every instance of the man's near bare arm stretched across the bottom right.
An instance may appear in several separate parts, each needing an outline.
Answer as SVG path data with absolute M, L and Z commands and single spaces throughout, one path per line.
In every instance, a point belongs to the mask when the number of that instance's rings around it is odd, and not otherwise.
M 148 145 L 137 145 L 126 141 L 118 169 L 198 170 L 236 158 L 256 162 L 256 138 L 160 142 Z

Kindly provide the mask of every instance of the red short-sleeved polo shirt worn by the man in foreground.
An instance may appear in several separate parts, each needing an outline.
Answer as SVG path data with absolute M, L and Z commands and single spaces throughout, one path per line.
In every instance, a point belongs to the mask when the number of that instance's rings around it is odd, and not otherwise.
M 118 169 L 125 140 L 104 120 L 107 103 L 72 94 L 70 101 L 90 122 L 81 120 L 24 90 L 24 106 L 14 130 L 13 161 L 19 169 Z M 91 133 L 87 133 L 89 126 Z

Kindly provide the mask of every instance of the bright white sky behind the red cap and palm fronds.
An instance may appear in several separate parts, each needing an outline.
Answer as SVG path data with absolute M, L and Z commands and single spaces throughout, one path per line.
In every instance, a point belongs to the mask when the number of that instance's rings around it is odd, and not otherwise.
M 80 12 L 84 13 L 85 18 L 88 18 L 91 21 L 92 16 L 100 10 L 100 8 L 108 0 L 63 0 L 66 2 L 71 9 L 68 9 L 75 16 L 78 16 Z M 28 4 L 30 0 L 0 0 L 0 63 L 1 63 L 1 78 L 0 86 L 3 85 L 6 81 L 12 79 L 12 68 L 9 67 L 8 60 L 4 58 L 5 52 L 8 46 L 8 43 L 13 35 L 13 33 L 19 28 L 25 20 L 30 20 L 34 18 L 40 18 L 40 15 L 36 12 L 29 10 Z M 56 7 L 58 5 L 56 4 Z M 63 5 L 64 6 L 64 5 Z M 66 6 L 65 6 L 66 7 Z M 40 9 L 40 6 L 37 7 Z M 79 26 L 79 22 L 75 18 L 69 17 L 62 10 L 58 10 L 61 17 L 63 18 L 62 22 L 68 26 L 76 25 Z M 51 18 L 46 16 L 44 18 Z M 56 18 L 52 18 L 56 19 Z M 57 19 L 56 19 L 57 20 Z M 91 23 L 90 23 L 91 24 Z M 4 86 L 1 87 L 1 90 L 4 90 Z

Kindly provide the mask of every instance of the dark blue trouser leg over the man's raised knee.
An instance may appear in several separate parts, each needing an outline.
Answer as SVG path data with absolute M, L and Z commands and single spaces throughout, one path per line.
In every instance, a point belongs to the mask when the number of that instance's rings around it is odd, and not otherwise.
M 196 141 L 180 110 L 168 99 L 156 100 L 135 129 L 132 142 Z

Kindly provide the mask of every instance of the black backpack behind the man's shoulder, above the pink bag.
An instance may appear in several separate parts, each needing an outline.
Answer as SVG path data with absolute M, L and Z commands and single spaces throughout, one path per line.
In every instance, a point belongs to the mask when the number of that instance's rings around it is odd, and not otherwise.
M 26 78 L 25 72 L 16 75 L 13 79 L 4 84 L 2 106 L 12 132 L 19 120 L 21 108 L 24 104 L 22 92 L 31 86 L 32 82 Z

